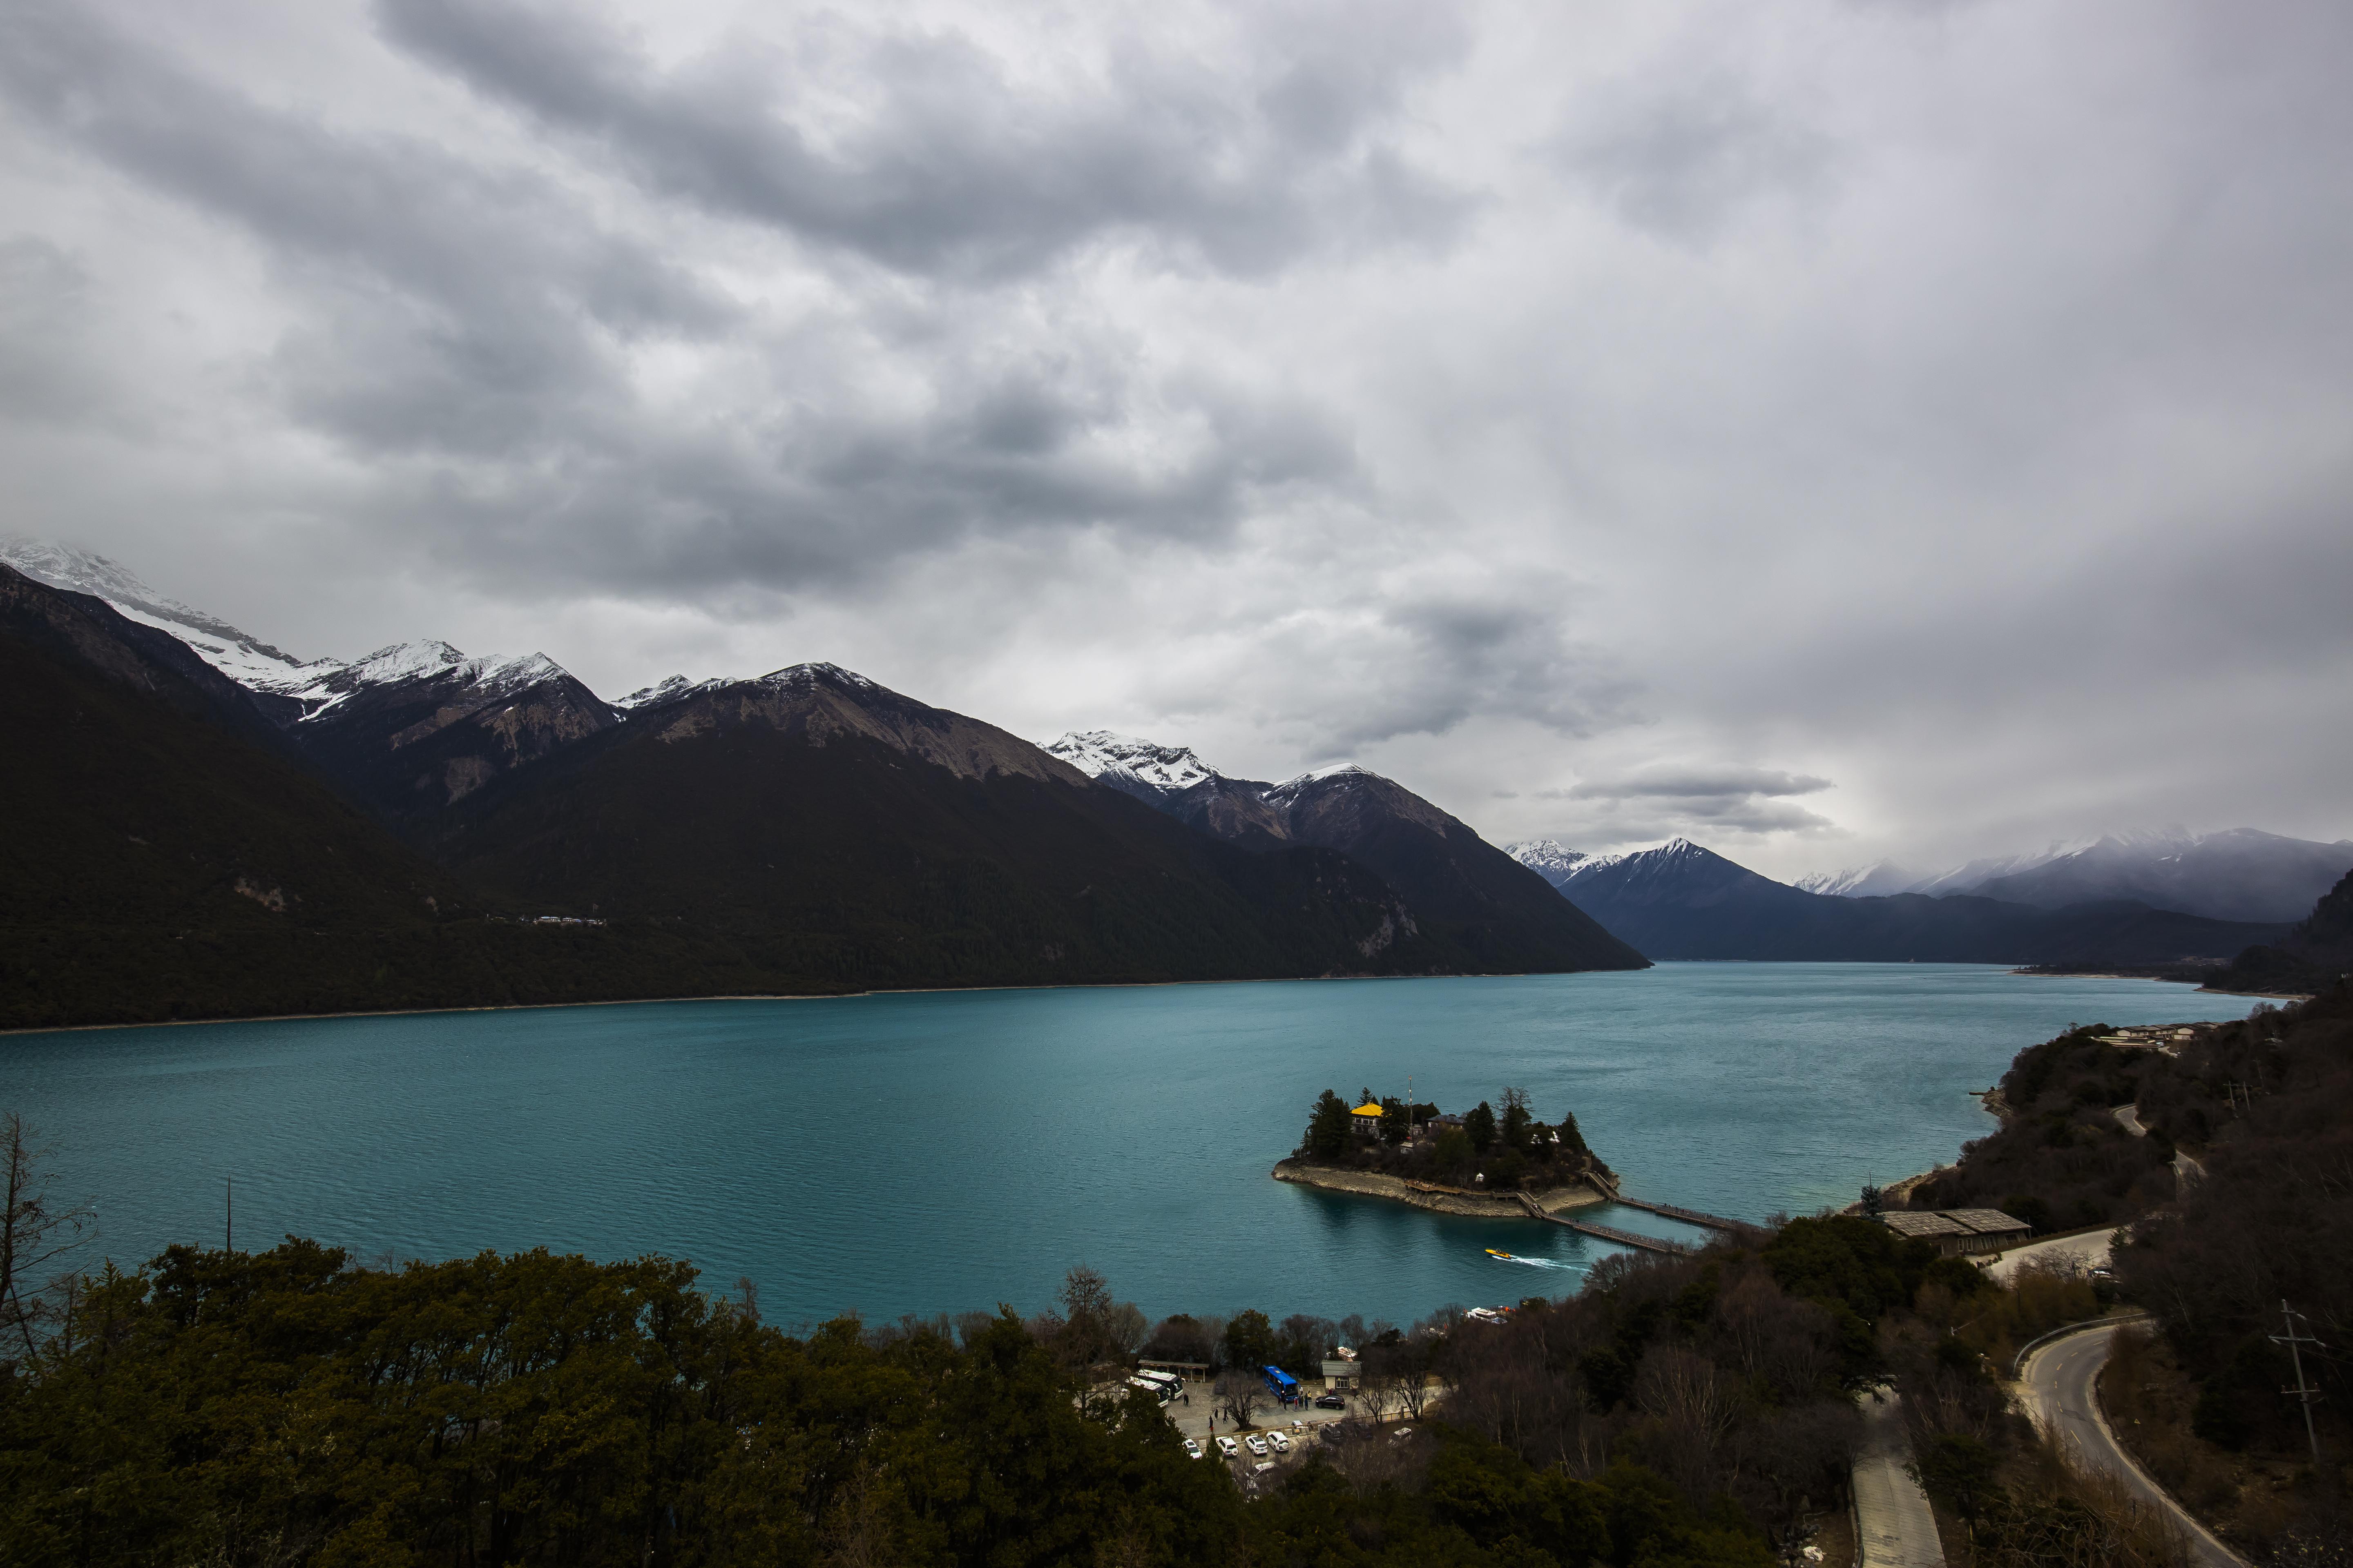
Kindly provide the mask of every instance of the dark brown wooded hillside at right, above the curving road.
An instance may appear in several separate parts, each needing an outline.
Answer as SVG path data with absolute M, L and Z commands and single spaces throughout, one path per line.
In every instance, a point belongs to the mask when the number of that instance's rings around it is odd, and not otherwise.
M 2282 1305 L 2327 1345 L 2353 1338 L 2353 987 L 2259 1004 L 2162 1048 L 2082 1025 L 2021 1051 L 2000 1100 L 2002 1128 L 1913 1204 L 2125 1227 L 2118 1286 L 2162 1338 L 2120 1349 L 2132 1371 L 2108 1396 L 2146 1427 L 2127 1434 L 2144 1462 L 2242 1544 L 2353 1540 L 2344 1486 L 2308 1469 L 2301 1408 L 2280 1394 L 2294 1361 L 2275 1340 Z M 2353 1446 L 2348 1366 L 2304 1361 L 2329 1455 Z

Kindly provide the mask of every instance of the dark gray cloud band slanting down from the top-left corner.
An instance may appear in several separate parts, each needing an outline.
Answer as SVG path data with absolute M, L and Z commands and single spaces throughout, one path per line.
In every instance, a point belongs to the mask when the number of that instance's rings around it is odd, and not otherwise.
M 287 409 L 362 447 L 515 454 L 612 393 L 612 341 L 732 317 L 525 169 L 268 108 L 85 7 L 19 5 L 0 82 L 49 129 L 271 247 L 311 306 L 273 364 Z

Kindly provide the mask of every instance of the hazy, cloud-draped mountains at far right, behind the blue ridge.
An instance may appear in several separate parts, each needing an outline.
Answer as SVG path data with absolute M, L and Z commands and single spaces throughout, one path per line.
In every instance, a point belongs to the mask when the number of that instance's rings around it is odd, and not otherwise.
M 2042 910 L 2129 898 L 2209 919 L 2292 922 L 2348 870 L 2353 870 L 2353 839 L 2318 844 L 2254 827 L 2207 835 L 2167 827 L 1969 860 L 1932 877 L 1880 860 L 1800 877 L 1795 886 L 1840 898 L 1977 893 Z

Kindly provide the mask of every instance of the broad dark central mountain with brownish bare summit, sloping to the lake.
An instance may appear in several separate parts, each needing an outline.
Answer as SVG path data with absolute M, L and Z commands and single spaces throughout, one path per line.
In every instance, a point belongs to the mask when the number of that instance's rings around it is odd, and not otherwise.
M 812 983 L 1497 969 L 1351 856 L 1221 844 L 833 665 L 635 705 L 433 849 L 527 903 L 784 943 Z

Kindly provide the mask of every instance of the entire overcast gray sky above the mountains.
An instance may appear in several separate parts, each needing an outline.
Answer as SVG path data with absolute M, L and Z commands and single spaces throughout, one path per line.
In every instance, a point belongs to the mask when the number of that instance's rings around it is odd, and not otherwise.
M 0 0 L 0 531 L 1793 875 L 2353 835 L 2353 9 Z

